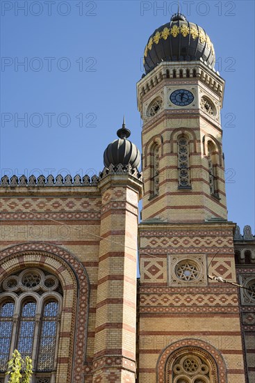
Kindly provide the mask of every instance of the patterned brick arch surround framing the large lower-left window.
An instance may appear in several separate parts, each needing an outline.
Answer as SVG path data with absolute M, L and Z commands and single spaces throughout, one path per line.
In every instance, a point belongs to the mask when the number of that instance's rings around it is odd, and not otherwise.
M 25 269 L 38 267 L 58 276 L 64 290 L 63 313 L 59 343 L 69 342 L 69 350 L 63 353 L 59 347 L 58 359 L 67 359 L 67 382 L 81 381 L 84 373 L 84 358 L 76 352 L 76 343 L 84 350 L 88 333 L 89 279 L 85 268 L 69 251 L 52 244 L 30 242 L 8 247 L 0 251 L 0 282 L 8 275 Z M 68 290 L 68 299 L 65 291 Z M 65 307 L 67 308 L 65 310 Z M 70 314 L 70 312 L 72 314 Z M 70 315 L 72 318 L 70 318 Z M 67 331 L 67 329 L 69 329 Z M 67 335 L 68 334 L 68 335 Z M 62 350 L 62 351 L 61 351 Z M 74 358 L 72 357 L 74 355 Z M 73 360 L 74 359 L 74 360 Z M 66 369 L 66 366 L 64 366 Z M 60 379 L 61 364 L 56 382 Z

